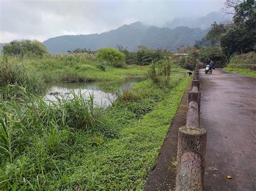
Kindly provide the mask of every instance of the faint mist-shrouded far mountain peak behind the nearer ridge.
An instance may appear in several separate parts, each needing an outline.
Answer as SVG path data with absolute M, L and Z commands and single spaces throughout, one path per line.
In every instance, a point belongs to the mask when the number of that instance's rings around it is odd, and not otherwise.
M 171 22 L 167 22 L 164 26 L 174 29 L 178 26 L 188 26 L 190 28 L 208 29 L 212 23 L 223 23 L 232 20 L 230 15 L 222 12 L 210 12 L 205 17 L 199 18 L 174 18 Z

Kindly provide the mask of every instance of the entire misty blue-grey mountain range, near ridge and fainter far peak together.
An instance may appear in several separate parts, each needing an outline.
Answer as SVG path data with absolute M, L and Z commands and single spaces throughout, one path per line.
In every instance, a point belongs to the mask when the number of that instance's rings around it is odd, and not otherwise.
M 223 23 L 229 19 L 224 13 L 211 12 L 200 18 L 175 18 L 161 28 L 136 22 L 99 34 L 53 37 L 45 40 L 43 44 L 52 54 L 66 53 L 76 48 L 117 48 L 117 45 L 127 47 L 129 51 L 137 51 L 139 45 L 150 49 L 176 51 L 180 46 L 192 46 L 196 40 L 203 38 L 213 22 Z M 4 45 L 0 43 L 0 52 Z

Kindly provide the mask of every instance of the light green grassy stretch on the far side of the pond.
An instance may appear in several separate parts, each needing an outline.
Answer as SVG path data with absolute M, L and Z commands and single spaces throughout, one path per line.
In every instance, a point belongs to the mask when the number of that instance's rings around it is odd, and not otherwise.
M 0 60 L 3 59 L 2 56 Z M 11 65 L 23 66 L 41 74 L 45 82 L 120 81 L 129 77 L 145 76 L 147 73 L 145 67 L 136 65 L 114 68 L 86 53 L 48 55 L 42 58 L 11 56 L 7 59 Z

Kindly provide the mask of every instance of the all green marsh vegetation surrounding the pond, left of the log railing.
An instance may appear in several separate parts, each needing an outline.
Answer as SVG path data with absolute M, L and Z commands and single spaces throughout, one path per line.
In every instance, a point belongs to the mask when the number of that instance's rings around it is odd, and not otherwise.
M 125 54 L 111 48 L 1 56 L 0 189 L 142 189 L 190 80 L 180 58 L 156 52 L 144 52 L 150 66 L 124 68 L 113 63 Z M 48 82 L 146 75 L 107 109 L 75 92 L 57 101 L 38 94 Z

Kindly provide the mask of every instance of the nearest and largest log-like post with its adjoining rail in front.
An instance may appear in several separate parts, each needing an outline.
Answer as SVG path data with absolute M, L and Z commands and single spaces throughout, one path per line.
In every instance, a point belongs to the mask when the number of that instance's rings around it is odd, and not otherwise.
M 176 190 L 203 190 L 205 152 L 205 129 L 179 128 Z

